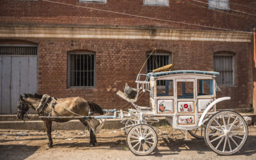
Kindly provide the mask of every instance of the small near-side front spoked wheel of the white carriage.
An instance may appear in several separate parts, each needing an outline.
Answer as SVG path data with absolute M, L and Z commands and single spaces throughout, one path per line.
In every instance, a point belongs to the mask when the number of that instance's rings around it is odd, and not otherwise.
M 156 131 L 150 125 L 135 125 L 127 134 L 127 146 L 138 156 L 152 153 L 157 147 Z

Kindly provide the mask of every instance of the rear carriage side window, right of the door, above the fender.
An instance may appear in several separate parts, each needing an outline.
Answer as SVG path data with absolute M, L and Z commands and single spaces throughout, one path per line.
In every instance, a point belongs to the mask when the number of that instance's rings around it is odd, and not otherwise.
M 197 95 L 213 95 L 212 79 L 197 80 Z

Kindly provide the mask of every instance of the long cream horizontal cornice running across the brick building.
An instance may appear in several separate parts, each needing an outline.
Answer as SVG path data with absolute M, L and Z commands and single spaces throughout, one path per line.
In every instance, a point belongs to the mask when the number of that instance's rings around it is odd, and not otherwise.
M 252 33 L 99 26 L 0 26 L 0 38 L 100 38 L 126 40 L 187 40 L 252 42 Z

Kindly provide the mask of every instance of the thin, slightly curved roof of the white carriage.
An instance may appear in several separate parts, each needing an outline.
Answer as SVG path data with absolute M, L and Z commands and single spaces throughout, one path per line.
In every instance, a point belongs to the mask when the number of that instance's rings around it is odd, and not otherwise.
M 202 71 L 202 70 L 173 70 L 173 71 L 167 71 L 167 72 L 156 72 L 156 73 L 148 73 L 147 76 L 153 76 L 153 77 L 159 77 L 159 76 L 172 76 L 176 74 L 202 74 L 207 76 L 216 76 L 219 74 L 219 72 L 211 72 L 211 71 Z

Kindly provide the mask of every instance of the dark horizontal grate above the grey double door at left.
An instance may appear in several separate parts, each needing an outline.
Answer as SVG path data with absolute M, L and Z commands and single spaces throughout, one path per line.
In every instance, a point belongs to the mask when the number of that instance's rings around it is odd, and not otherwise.
M 1 56 L 33 56 L 37 55 L 37 47 L 0 46 Z

